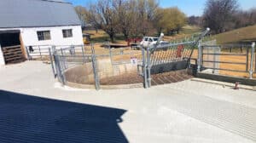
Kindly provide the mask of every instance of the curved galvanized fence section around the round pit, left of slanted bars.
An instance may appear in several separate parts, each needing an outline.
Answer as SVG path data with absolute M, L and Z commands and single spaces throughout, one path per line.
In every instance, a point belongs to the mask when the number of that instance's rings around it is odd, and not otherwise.
M 137 74 L 137 64 L 141 62 L 141 51 L 131 48 L 111 49 L 103 43 L 101 54 L 96 54 L 95 45 L 49 48 L 55 77 L 61 83 L 103 85 L 143 83 Z M 99 49 L 99 48 L 97 48 Z

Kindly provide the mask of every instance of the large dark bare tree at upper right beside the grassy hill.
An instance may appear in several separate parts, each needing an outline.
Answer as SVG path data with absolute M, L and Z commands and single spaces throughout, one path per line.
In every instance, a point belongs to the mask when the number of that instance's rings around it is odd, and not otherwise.
M 204 26 L 210 27 L 215 33 L 232 29 L 234 13 L 238 9 L 237 0 L 207 0 L 204 10 Z

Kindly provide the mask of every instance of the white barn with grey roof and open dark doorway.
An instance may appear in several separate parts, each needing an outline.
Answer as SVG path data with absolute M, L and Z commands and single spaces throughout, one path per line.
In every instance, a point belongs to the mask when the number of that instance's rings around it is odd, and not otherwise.
M 19 60 L 21 55 L 26 58 L 26 46 L 82 44 L 81 22 L 72 3 L 64 0 L 0 1 L 0 65 Z M 9 51 L 15 54 L 10 55 Z

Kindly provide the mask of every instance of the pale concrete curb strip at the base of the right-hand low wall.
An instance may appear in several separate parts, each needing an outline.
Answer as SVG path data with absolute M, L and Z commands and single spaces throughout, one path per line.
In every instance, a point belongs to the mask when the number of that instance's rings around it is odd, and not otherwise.
M 202 82 L 202 83 L 212 83 L 212 84 L 217 84 L 217 85 L 221 85 L 221 86 L 228 86 L 228 87 L 232 87 L 232 88 L 235 87 L 235 83 L 218 82 L 218 81 L 213 81 L 213 80 L 209 80 L 209 79 L 202 79 L 202 78 L 192 78 L 191 81 Z M 248 86 L 248 85 L 240 84 L 239 88 L 256 91 L 255 86 Z

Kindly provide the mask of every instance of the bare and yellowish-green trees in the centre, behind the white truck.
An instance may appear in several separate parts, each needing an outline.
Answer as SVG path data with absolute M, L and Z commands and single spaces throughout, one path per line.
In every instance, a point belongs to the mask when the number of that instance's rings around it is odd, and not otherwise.
M 162 9 L 156 0 L 97 0 L 75 8 L 82 23 L 102 29 L 113 42 L 117 33 L 141 37 L 155 32 L 172 34 L 181 30 L 187 18 L 177 8 Z

